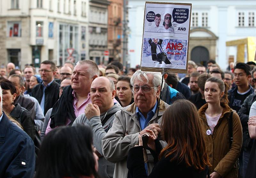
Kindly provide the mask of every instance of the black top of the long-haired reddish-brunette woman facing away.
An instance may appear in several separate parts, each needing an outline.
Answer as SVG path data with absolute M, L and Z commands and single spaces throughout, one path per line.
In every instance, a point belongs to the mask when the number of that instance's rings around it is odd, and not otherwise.
M 155 160 L 155 167 L 153 168 L 152 172 L 147 176 L 144 164 L 144 157 L 143 157 L 143 147 L 136 146 L 130 149 L 128 158 L 127 158 L 127 168 L 129 172 L 127 174 L 128 178 L 165 178 L 165 177 L 172 177 L 172 178 L 180 178 L 180 177 L 191 177 L 191 178 L 205 178 L 207 175 L 208 168 L 205 168 L 204 171 L 199 172 L 194 167 L 187 167 L 185 162 L 182 161 L 178 163 L 178 161 L 172 161 L 172 155 L 168 156 L 167 158 L 163 158 L 158 161 L 158 155 L 161 150 L 159 141 L 155 141 L 156 143 L 156 154 L 152 151 L 152 155 L 154 156 Z M 158 162 L 157 162 L 158 161 Z

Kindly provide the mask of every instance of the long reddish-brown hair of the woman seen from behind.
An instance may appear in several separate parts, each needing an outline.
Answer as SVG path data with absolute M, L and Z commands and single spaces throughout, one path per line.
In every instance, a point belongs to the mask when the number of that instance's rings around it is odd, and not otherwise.
M 210 166 L 199 115 L 193 103 L 177 100 L 163 115 L 162 133 L 167 146 L 160 152 L 159 160 L 172 155 L 172 161 L 203 171 Z

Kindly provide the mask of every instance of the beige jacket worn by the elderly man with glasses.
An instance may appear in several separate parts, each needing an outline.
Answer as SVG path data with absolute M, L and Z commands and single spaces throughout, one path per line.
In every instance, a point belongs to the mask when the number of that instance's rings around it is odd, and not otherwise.
M 168 107 L 169 105 L 167 103 L 162 100 L 160 101 L 158 114 L 158 123 L 160 125 L 162 121 L 161 116 Z M 148 125 L 155 123 L 156 115 L 157 110 Z M 108 133 L 102 139 L 102 151 L 104 157 L 108 161 L 116 163 L 114 178 L 127 177 L 127 155 L 134 145 L 138 145 L 138 135 L 140 131 L 140 121 L 136 114 L 135 103 L 125 108 L 121 108 L 120 111 L 116 112 L 112 128 L 108 130 Z M 151 173 L 153 167 L 154 159 L 148 151 L 148 174 Z

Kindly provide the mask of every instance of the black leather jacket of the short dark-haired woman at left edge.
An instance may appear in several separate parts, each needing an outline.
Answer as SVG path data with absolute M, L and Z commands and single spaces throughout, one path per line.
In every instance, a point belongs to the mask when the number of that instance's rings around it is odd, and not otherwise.
M 24 110 L 22 113 L 21 111 Z M 20 115 L 22 114 L 22 115 Z M 35 138 L 35 122 L 30 117 L 30 114 L 27 109 L 22 108 L 20 104 L 15 104 L 15 108 L 12 109 L 10 113 L 12 118 L 18 121 L 23 127 L 24 131 L 28 134 L 28 136 L 34 140 Z

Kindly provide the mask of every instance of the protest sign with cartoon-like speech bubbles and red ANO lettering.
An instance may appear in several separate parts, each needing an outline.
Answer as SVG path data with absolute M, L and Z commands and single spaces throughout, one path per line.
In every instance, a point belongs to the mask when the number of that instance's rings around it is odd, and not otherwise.
M 188 72 L 192 4 L 146 2 L 141 70 Z

